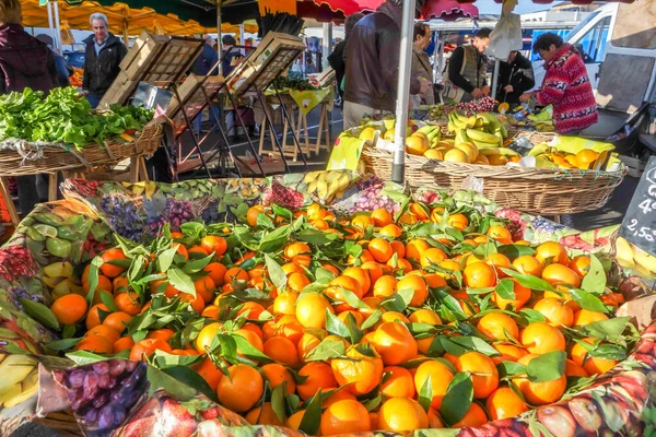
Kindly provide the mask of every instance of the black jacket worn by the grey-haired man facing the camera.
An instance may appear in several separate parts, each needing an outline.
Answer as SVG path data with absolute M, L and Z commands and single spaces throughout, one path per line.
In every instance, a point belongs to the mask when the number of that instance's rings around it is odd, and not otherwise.
M 84 39 L 86 57 L 84 59 L 84 79 L 82 88 L 90 94 L 102 96 L 120 72 L 118 64 L 128 54 L 126 46 L 114 34 L 107 35 L 107 43 L 98 56 L 95 54 L 94 36 Z

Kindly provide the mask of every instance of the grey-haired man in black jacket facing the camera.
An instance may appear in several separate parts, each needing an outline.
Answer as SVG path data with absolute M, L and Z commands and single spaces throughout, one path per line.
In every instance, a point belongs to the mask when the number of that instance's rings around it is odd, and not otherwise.
M 93 13 L 89 21 L 93 35 L 84 39 L 86 55 L 82 90 L 91 106 L 95 108 L 120 72 L 118 66 L 128 54 L 128 49 L 118 37 L 109 33 L 104 14 Z

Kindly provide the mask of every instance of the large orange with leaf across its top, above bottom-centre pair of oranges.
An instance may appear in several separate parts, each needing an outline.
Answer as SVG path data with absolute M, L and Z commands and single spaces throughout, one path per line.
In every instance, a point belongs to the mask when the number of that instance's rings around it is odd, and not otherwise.
M 344 390 L 356 397 L 368 393 L 383 377 L 383 359 L 374 350 L 365 355 L 352 347 L 345 358 L 332 359 L 330 368 L 339 387 L 348 385 Z

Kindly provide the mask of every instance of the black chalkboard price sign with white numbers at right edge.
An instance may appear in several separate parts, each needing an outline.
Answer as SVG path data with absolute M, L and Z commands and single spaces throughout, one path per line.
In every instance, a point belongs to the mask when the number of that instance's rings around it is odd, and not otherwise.
M 652 156 L 635 188 L 620 235 L 656 256 L 656 156 Z

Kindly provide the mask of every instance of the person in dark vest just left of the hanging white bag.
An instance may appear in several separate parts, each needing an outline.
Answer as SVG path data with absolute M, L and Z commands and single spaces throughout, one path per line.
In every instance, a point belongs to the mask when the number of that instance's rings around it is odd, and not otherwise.
M 483 55 L 490 44 L 491 28 L 477 32 L 473 42 L 454 50 L 448 60 L 448 75 L 444 80 L 445 101 L 471 102 L 490 95 L 485 80 L 488 57 Z

